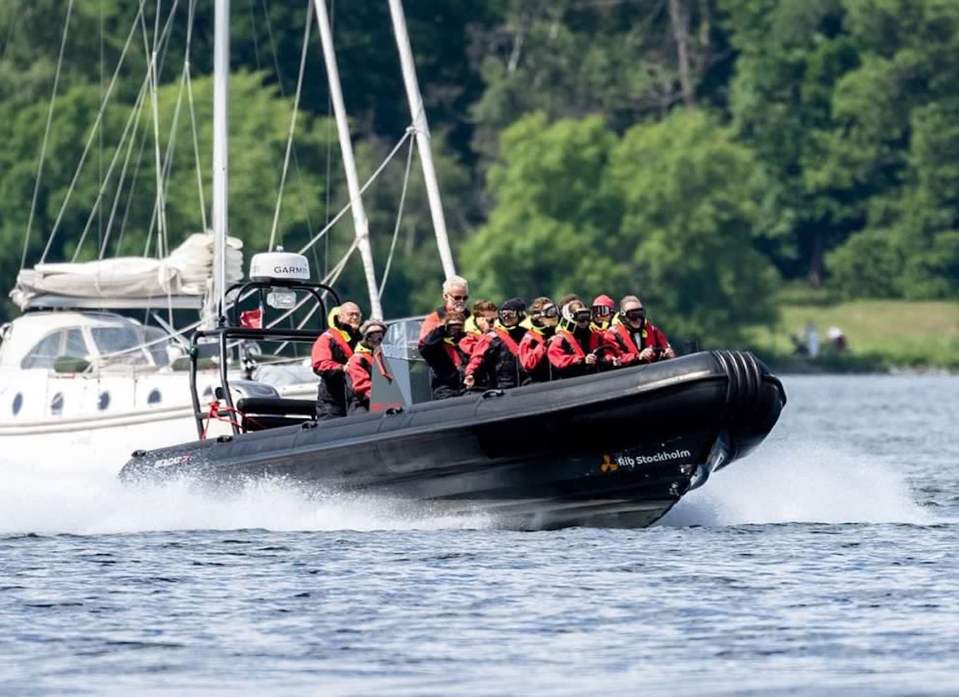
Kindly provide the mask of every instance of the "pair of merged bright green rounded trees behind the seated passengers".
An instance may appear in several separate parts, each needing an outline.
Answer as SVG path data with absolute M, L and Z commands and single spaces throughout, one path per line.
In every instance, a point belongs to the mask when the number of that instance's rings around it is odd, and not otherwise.
M 712 345 L 774 316 L 753 246 L 755 161 L 728 128 L 677 111 L 618 141 L 597 117 L 503 131 L 496 205 L 463 247 L 474 294 L 639 292 L 667 331 Z

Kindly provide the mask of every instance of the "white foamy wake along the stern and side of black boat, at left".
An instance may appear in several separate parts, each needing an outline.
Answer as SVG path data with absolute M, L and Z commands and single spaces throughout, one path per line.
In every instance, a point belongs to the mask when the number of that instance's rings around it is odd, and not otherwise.
M 88 455 L 92 457 L 92 455 Z M 396 530 L 488 527 L 481 517 L 431 517 L 386 501 L 317 499 L 282 481 L 251 482 L 225 494 L 189 481 L 128 486 L 116 473 L 125 456 L 105 461 L 43 462 L 35 454 L 0 455 L 0 535 L 168 530 Z

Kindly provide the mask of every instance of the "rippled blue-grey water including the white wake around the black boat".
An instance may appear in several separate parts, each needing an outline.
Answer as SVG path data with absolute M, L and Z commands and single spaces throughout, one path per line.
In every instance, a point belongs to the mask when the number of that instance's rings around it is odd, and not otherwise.
M 959 694 L 959 379 L 794 378 L 646 530 L 0 453 L 0 693 Z

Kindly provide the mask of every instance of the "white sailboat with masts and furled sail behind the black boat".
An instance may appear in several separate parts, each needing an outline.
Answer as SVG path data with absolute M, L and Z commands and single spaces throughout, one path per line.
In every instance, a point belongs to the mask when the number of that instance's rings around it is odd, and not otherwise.
M 325 0 L 313 4 L 350 194 L 348 207 L 356 237 L 350 251 L 360 250 L 372 314 L 382 315 Z M 405 138 L 414 135 L 416 139 L 437 246 L 449 275 L 455 273 L 453 255 L 406 22 L 399 0 L 389 0 L 389 7 L 412 116 Z M 224 307 L 226 288 L 242 276 L 242 244 L 227 237 L 229 0 L 216 0 L 215 8 L 212 235 L 190 238 L 185 249 L 163 260 L 45 265 L 21 272 L 13 294 L 21 308 L 31 312 L 0 330 L 0 443 L 15 439 L 18 446 L 69 448 L 109 440 L 114 447 L 121 442 L 130 448 L 155 448 L 188 439 L 195 432 L 187 376 L 176 369 L 179 366 L 171 356 L 177 346 L 185 345 L 184 335 L 169 325 L 163 331 L 103 311 L 199 310 L 205 298 L 204 314 L 212 317 Z M 345 259 L 340 269 L 344 263 Z M 262 390 L 261 394 L 312 396 L 315 383 L 305 372 L 305 379 L 300 370 L 299 377 L 275 388 L 258 383 L 247 383 L 247 388 Z M 207 385 L 205 394 L 212 394 L 217 382 L 215 369 L 200 376 L 200 383 Z

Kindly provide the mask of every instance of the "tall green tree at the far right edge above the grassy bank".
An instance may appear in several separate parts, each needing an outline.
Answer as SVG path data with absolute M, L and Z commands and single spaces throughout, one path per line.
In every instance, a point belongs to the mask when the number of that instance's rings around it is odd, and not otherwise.
M 847 4 L 864 58 L 837 86 L 841 128 L 824 171 L 872 197 L 865 229 L 830 257 L 836 284 L 859 295 L 957 297 L 959 7 Z

